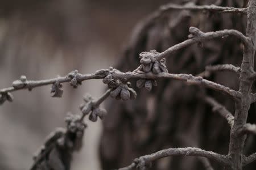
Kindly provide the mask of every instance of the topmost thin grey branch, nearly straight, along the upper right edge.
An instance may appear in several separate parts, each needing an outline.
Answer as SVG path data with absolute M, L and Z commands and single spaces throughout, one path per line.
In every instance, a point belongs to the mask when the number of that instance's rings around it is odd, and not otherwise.
M 210 12 L 228 12 L 246 14 L 247 8 L 222 7 L 216 5 L 195 5 L 187 3 L 185 5 L 177 5 L 170 3 L 160 7 L 161 10 L 191 10 L 191 11 L 210 11 Z

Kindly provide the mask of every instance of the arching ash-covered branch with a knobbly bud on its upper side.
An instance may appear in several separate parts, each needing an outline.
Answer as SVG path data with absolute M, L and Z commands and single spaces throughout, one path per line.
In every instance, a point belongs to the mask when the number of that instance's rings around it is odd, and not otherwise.
M 216 39 L 218 37 L 226 37 L 226 36 L 236 36 L 238 39 L 240 39 L 245 46 L 251 46 L 249 37 L 246 37 L 241 32 L 234 30 L 234 29 L 224 29 L 222 31 L 215 31 L 215 32 L 202 32 L 198 28 L 190 27 L 189 32 L 191 35 L 189 35 L 189 39 L 185 40 L 183 42 L 180 42 L 179 44 L 176 44 L 164 52 L 160 53 L 158 56 L 156 56 L 156 59 L 162 59 L 165 57 L 168 57 L 170 54 L 176 52 L 177 50 L 183 49 L 187 46 L 190 46 L 195 43 Z

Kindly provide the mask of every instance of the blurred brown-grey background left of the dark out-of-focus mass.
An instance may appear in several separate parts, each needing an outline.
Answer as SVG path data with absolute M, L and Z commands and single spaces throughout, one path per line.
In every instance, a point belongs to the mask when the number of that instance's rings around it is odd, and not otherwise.
M 166 2 L 1 1 L 0 88 L 11 86 L 20 75 L 37 80 L 113 66 L 135 23 Z M 13 92 L 13 103 L 0 107 L 0 169 L 28 169 L 46 136 L 64 126 L 67 112 L 79 112 L 82 95 L 100 96 L 104 87 L 101 80 L 86 81 L 76 90 L 66 83 L 60 99 L 50 96 L 50 86 Z M 100 169 L 101 121 L 86 122 L 74 170 Z

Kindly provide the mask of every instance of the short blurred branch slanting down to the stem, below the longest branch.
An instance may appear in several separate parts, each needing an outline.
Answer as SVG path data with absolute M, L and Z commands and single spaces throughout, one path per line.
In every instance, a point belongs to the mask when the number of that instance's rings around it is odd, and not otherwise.
M 209 96 L 204 96 L 202 97 L 202 99 L 208 103 L 209 105 L 212 106 L 212 111 L 214 113 L 219 113 L 222 117 L 224 117 L 227 121 L 228 124 L 230 125 L 230 127 L 232 128 L 234 125 L 234 116 L 232 115 L 232 113 L 230 113 L 225 107 L 224 105 L 221 105 L 220 103 L 218 103 L 216 100 L 214 100 L 212 97 Z

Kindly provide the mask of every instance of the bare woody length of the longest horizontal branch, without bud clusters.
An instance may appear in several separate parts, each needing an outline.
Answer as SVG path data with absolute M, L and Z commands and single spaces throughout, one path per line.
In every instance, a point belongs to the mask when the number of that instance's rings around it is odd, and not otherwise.
M 53 78 L 53 79 L 46 79 L 46 80 L 15 80 L 13 83 L 13 86 L 15 87 L 8 87 L 3 88 L 0 90 L 0 94 L 6 94 L 7 92 L 11 91 L 17 91 L 17 90 L 23 90 L 23 89 L 29 89 L 40 86 L 46 86 L 48 84 L 55 84 L 57 83 L 64 83 L 64 82 L 72 82 L 74 78 L 76 78 L 77 82 L 82 82 L 84 80 L 88 79 L 103 79 L 107 74 L 109 74 L 109 70 L 98 70 L 94 74 L 80 74 L 76 73 L 79 76 L 64 76 L 59 78 Z M 113 79 L 118 80 L 129 80 L 129 79 L 175 79 L 175 80 L 181 80 L 185 81 L 189 84 L 196 84 L 200 86 L 204 86 L 207 88 L 211 88 L 216 91 L 224 92 L 224 94 L 227 94 L 229 96 L 232 96 L 234 99 L 237 99 L 241 96 L 240 92 L 234 91 L 230 89 L 229 87 L 222 86 L 221 84 L 211 82 L 210 80 L 203 79 L 200 76 L 193 76 L 191 74 L 170 74 L 170 73 L 159 73 L 159 74 L 153 74 L 153 73 L 135 73 L 135 72 L 126 72 L 122 73 L 119 70 L 113 71 L 111 73 L 113 76 Z M 15 82 L 18 82 L 15 84 Z M 15 84 L 15 85 L 14 85 Z

